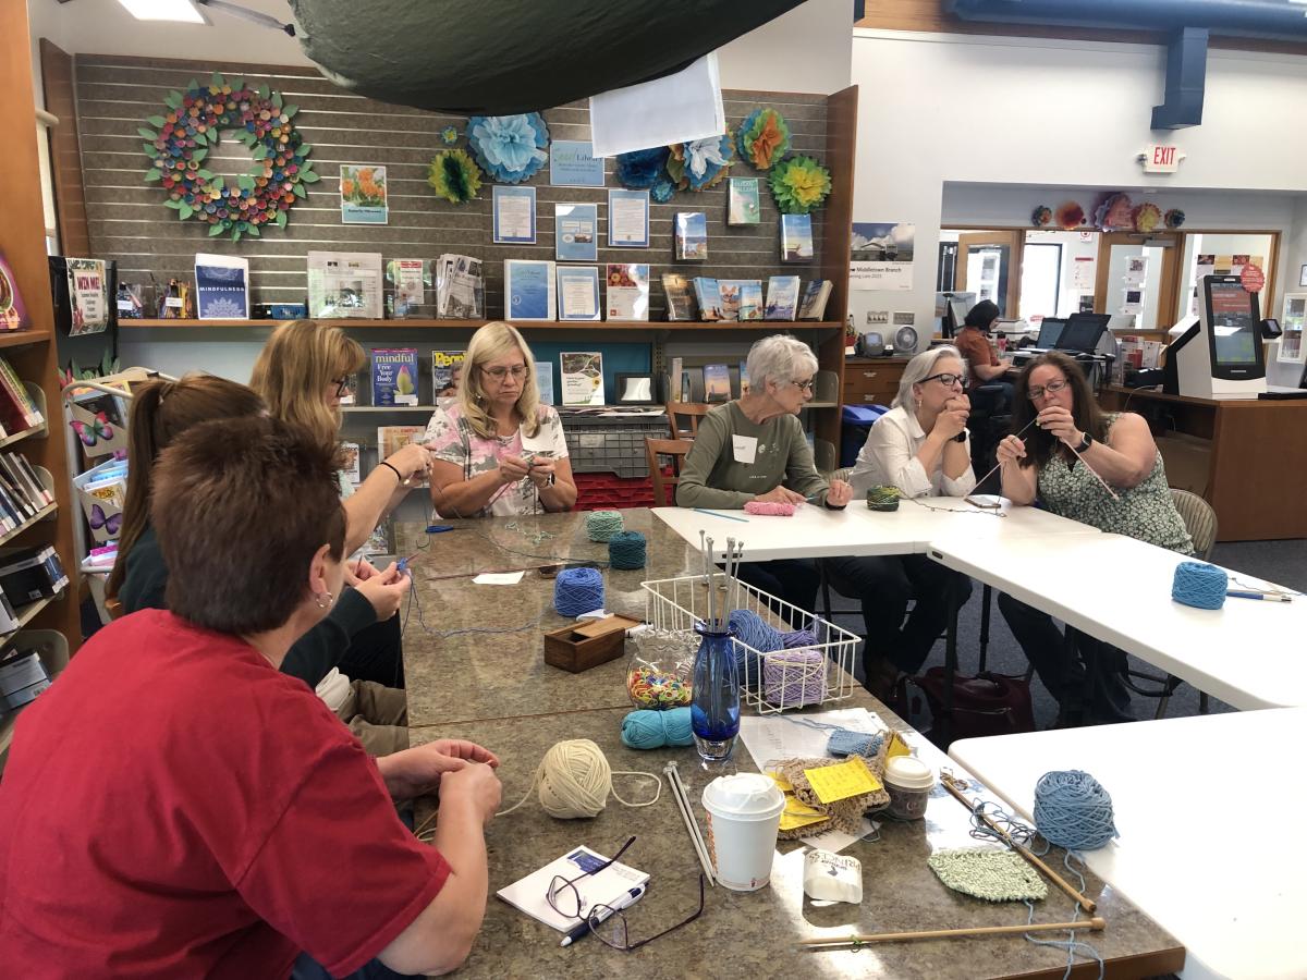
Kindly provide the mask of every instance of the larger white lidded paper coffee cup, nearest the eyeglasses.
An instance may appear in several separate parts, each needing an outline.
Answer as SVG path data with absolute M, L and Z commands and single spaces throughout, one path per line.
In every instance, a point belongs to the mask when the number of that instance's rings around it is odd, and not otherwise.
M 786 794 L 767 776 L 738 772 L 718 776 L 703 788 L 703 809 L 718 883 L 733 891 L 765 887 L 771 879 Z

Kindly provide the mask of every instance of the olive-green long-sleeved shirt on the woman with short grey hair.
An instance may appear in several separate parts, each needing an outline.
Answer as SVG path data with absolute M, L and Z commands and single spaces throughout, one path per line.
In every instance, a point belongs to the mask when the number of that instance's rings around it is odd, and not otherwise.
M 753 461 L 748 443 L 737 453 L 732 436 L 755 439 Z M 750 422 L 731 401 L 708 412 L 699 422 L 694 447 L 685 457 L 676 502 L 681 507 L 744 507 L 778 485 L 826 503 L 826 480 L 813 465 L 813 451 L 796 416 L 778 416 L 762 425 Z

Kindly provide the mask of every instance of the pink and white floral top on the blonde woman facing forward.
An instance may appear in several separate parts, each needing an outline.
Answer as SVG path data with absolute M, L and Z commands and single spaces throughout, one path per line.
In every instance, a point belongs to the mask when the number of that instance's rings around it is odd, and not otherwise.
M 512 435 L 482 439 L 472 431 L 457 402 L 451 401 L 435 409 L 426 425 L 423 442 L 438 460 L 459 466 L 464 480 L 494 469 L 505 456 L 532 453 L 554 460 L 566 459 L 567 440 L 563 438 L 563 423 L 558 413 L 550 405 L 541 405 L 537 412 L 540 427 L 533 436 L 523 436 L 519 427 Z M 489 507 L 482 507 L 476 515 L 463 516 L 512 517 L 544 511 L 536 485 L 523 478 L 503 487 Z

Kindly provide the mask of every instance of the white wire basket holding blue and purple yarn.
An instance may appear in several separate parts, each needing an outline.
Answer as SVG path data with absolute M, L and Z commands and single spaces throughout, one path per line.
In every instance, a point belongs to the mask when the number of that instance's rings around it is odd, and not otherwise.
M 740 699 L 759 715 L 844 700 L 853 694 L 859 638 L 746 581 L 716 572 L 715 608 L 725 610 L 735 635 Z M 702 575 L 642 583 L 644 621 L 655 630 L 693 634 L 708 618 Z

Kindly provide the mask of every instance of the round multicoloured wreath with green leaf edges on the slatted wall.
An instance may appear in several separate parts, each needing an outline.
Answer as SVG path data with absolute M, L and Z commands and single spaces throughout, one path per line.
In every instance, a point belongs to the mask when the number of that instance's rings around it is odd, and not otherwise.
M 267 225 L 285 227 L 286 212 L 307 195 L 305 186 L 320 179 L 290 122 L 299 108 L 284 105 L 267 85 L 229 82 L 214 72 L 208 85 L 192 78 L 186 91 L 170 91 L 163 102 L 167 115 L 150 116 L 149 127 L 137 131 L 148 140 L 145 180 L 161 183 L 178 218 L 205 222 L 209 235 L 230 233 L 239 242 L 242 235 L 257 238 Z M 201 166 L 223 131 L 255 161 L 231 183 Z

